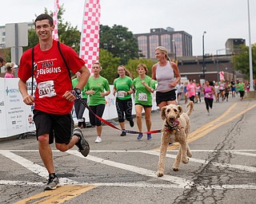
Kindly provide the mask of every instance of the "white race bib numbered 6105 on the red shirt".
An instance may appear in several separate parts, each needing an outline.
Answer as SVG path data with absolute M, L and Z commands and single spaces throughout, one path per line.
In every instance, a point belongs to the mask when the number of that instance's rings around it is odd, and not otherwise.
M 47 80 L 40 82 L 38 84 L 38 93 L 39 98 L 43 98 L 45 96 L 52 97 L 56 96 L 55 88 L 54 88 L 54 80 Z

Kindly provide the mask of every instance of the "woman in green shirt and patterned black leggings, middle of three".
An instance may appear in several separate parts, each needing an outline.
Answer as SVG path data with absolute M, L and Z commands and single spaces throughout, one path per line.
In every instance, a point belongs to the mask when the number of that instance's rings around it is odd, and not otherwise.
M 133 93 L 133 80 L 128 77 L 130 72 L 125 66 L 118 66 L 119 77 L 114 80 L 113 94 L 116 96 L 115 106 L 118 112 L 118 122 L 122 128 L 122 133 L 120 136 L 126 135 L 126 127 L 124 116 L 126 114 L 126 120 L 130 122 L 130 127 L 134 127 L 134 120 L 132 118 L 133 103 L 131 100 L 131 93 Z M 128 75 L 128 76 L 126 76 Z

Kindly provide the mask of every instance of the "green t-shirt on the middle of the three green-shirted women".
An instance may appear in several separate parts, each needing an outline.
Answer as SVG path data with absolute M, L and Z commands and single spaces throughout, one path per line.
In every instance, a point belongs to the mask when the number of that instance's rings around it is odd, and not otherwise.
M 130 91 L 130 87 L 133 84 L 133 80 L 130 77 L 120 78 L 114 80 L 114 88 L 117 90 L 117 98 L 120 100 L 127 100 L 131 98 L 131 95 L 124 95 L 123 92 Z

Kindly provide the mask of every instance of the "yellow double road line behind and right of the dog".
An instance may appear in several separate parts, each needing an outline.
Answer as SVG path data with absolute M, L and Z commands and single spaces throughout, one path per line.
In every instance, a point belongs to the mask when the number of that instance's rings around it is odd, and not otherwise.
M 210 131 L 213 131 L 214 129 L 222 126 L 223 124 L 230 123 L 230 121 L 238 118 L 238 116 L 241 116 L 245 112 L 248 112 L 248 111 L 250 111 L 250 109 L 256 107 L 256 104 L 254 104 L 254 105 L 250 106 L 249 108 L 246 108 L 242 112 L 239 112 L 238 114 L 234 115 L 233 117 L 224 120 L 226 116 L 230 115 L 230 112 L 236 107 L 236 105 L 237 105 L 237 103 L 233 104 L 230 108 L 228 108 L 226 110 L 226 112 L 224 112 L 222 114 L 222 116 L 218 117 L 217 119 L 211 121 L 210 123 L 202 126 L 201 128 L 198 128 L 197 130 L 190 133 L 189 138 L 188 138 L 188 143 L 191 143 L 196 139 L 202 138 L 203 136 L 208 134 Z M 172 146 L 168 147 L 168 150 L 175 150 L 178 147 L 179 147 L 179 143 L 174 143 Z M 157 149 L 154 149 L 154 150 L 159 150 L 159 149 L 160 148 L 157 148 Z

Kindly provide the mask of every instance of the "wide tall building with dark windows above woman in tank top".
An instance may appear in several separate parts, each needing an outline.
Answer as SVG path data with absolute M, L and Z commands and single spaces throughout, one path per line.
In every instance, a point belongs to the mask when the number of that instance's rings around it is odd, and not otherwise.
M 145 58 L 154 58 L 154 49 L 164 46 L 171 57 L 192 56 L 192 36 L 173 28 L 150 29 L 150 33 L 134 34 L 138 39 L 138 49 Z

